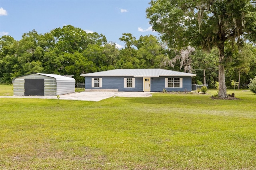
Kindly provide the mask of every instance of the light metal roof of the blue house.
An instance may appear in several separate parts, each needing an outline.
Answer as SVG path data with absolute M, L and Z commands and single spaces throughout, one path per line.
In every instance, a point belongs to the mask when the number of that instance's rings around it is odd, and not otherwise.
M 95 73 L 81 74 L 87 76 L 132 76 L 132 77 L 160 77 L 160 76 L 196 76 L 196 74 L 172 71 L 166 69 L 114 69 Z

